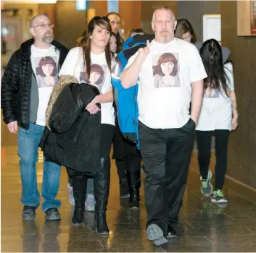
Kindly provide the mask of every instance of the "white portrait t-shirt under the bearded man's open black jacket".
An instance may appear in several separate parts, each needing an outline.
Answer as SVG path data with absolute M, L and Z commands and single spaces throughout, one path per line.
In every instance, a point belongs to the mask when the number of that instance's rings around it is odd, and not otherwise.
M 45 126 L 49 98 L 54 85 L 58 82 L 59 50 L 53 45 L 47 49 L 32 45 L 30 59 L 38 85 L 39 103 L 36 124 Z

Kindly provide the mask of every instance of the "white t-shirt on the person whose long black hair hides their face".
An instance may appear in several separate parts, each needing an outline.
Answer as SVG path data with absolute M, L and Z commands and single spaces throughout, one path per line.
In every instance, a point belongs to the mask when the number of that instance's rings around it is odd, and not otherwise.
M 227 63 L 224 66 L 228 80 L 228 90 L 235 90 L 233 66 Z M 220 90 L 207 89 L 202 101 L 202 108 L 197 123 L 199 131 L 213 131 L 215 129 L 232 129 L 232 104 L 223 88 Z

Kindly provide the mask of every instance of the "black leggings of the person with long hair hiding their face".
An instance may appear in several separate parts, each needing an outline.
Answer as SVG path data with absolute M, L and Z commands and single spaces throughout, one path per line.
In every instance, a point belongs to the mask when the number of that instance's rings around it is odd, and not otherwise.
M 229 130 L 215 130 L 215 189 L 222 189 L 225 181 L 228 157 Z M 202 179 L 207 179 L 210 165 L 212 131 L 196 131 L 198 163 Z

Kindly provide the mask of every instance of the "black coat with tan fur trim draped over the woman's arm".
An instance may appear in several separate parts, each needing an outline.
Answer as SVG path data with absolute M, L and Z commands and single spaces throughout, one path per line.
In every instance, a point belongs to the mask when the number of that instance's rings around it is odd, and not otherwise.
M 101 113 L 91 115 L 85 108 L 99 90 L 67 77 L 59 80 L 51 94 L 39 146 L 47 160 L 91 176 L 99 162 Z

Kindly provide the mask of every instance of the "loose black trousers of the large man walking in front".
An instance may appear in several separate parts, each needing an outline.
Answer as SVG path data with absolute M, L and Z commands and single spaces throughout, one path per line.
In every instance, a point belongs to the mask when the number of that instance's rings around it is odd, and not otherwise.
M 180 129 L 150 129 L 139 122 L 139 142 L 145 166 L 147 224 L 154 223 L 164 234 L 178 221 L 186 188 L 194 142 L 194 121 Z

